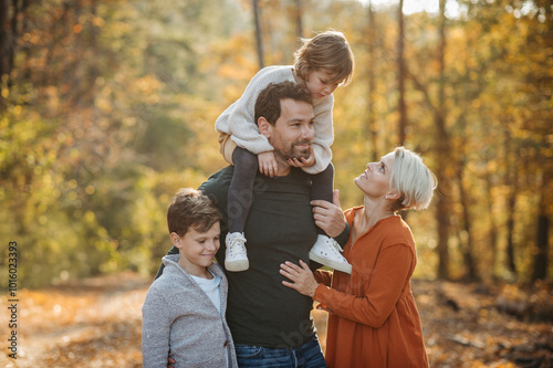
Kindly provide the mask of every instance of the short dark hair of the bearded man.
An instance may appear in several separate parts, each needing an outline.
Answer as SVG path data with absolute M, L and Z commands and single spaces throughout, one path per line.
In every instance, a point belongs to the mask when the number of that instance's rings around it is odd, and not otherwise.
M 263 91 L 260 92 L 255 101 L 255 123 L 262 116 L 271 125 L 276 123 L 280 117 L 280 102 L 285 98 L 291 98 L 298 102 L 312 104 L 311 94 L 307 90 L 294 82 L 270 83 Z

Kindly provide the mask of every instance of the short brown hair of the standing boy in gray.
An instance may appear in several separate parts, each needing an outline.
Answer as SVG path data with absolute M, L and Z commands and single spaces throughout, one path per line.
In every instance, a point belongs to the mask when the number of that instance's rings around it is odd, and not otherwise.
M 209 197 L 192 188 L 181 188 L 173 197 L 167 210 L 169 233 L 184 236 L 188 229 L 206 232 L 221 220 L 219 210 Z

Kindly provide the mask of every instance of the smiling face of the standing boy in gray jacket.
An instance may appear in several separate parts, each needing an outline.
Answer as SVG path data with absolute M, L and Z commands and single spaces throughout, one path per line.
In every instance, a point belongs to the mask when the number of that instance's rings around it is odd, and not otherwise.
M 184 236 L 171 233 L 173 243 L 179 249 L 179 265 L 191 275 L 204 276 L 206 267 L 211 264 L 219 250 L 220 232 L 220 224 L 216 222 L 206 232 L 190 228 Z

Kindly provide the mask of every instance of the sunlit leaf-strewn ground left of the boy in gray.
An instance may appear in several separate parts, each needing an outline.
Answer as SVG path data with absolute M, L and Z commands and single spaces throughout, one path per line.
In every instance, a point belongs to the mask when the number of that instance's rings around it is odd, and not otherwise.
M 142 367 L 140 308 L 149 283 L 124 273 L 21 291 L 18 359 L 4 349 L 0 366 Z

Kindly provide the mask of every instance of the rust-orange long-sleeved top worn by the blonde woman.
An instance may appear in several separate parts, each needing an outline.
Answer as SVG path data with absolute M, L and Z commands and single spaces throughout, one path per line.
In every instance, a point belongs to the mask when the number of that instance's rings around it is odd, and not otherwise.
M 345 211 L 349 225 L 361 207 Z M 352 274 L 317 271 L 314 299 L 328 315 L 325 359 L 334 367 L 428 367 L 420 319 L 410 290 L 415 240 L 399 215 L 383 219 L 344 256 Z M 328 287 L 331 286 L 331 287 Z

